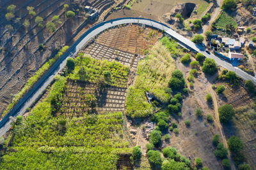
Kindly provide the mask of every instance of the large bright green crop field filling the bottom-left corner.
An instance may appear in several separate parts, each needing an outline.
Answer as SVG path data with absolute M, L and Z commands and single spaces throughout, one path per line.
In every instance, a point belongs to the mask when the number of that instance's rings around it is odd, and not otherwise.
M 131 153 L 122 113 L 54 115 L 52 101 L 62 97 L 65 87 L 66 78 L 59 76 L 49 96 L 13 125 L 0 169 L 116 169 L 118 154 Z

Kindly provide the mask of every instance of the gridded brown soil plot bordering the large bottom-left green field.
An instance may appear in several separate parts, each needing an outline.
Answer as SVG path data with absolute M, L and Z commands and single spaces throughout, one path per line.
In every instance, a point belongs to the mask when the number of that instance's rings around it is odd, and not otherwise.
M 92 83 L 79 83 L 68 80 L 67 90 L 63 96 L 60 114 L 66 117 L 80 117 L 90 108 L 84 103 L 84 95 L 91 94 L 96 97 L 96 112 L 124 111 L 126 88 L 106 87 L 97 90 Z

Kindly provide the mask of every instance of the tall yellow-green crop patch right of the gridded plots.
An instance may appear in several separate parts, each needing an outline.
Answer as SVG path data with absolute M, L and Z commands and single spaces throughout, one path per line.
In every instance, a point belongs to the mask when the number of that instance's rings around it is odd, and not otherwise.
M 168 41 L 166 41 L 168 45 L 175 44 L 173 41 Z M 166 88 L 175 69 L 171 53 L 172 51 L 170 52 L 166 46 L 158 42 L 148 56 L 140 60 L 134 86 L 129 87 L 127 91 L 127 116 L 148 117 L 152 113 L 154 107 L 147 102 L 145 91 L 151 92 L 163 103 L 168 102 L 170 94 L 166 93 Z

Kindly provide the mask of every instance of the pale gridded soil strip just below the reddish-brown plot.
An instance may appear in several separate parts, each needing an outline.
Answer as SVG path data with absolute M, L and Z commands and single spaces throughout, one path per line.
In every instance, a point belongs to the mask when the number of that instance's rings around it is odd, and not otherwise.
M 130 66 L 136 69 L 138 65 L 138 55 L 129 52 L 122 52 L 115 50 L 115 48 L 109 48 L 108 46 L 93 43 L 83 51 L 86 54 L 90 54 L 94 59 L 109 60 L 120 62 L 123 65 Z

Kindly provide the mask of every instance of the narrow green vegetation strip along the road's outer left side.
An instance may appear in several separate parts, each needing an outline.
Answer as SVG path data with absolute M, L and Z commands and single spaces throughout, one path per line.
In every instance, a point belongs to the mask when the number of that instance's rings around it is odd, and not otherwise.
M 36 71 L 35 75 L 33 75 L 33 76 L 31 76 L 31 78 L 29 78 L 26 85 L 24 85 L 24 87 L 20 90 L 20 92 L 13 96 L 12 103 L 10 103 L 8 105 L 8 107 L 2 114 L 2 117 L 4 115 L 6 115 L 6 113 L 8 113 L 8 111 L 10 111 L 13 108 L 13 106 L 21 99 L 21 97 L 24 96 L 24 94 L 26 94 L 26 92 L 28 92 L 28 90 L 36 83 L 36 81 L 39 80 L 39 78 L 41 78 L 41 76 L 45 73 L 45 71 L 47 71 L 49 69 L 49 67 L 51 67 L 52 64 L 57 59 L 59 59 L 60 56 L 67 49 L 68 49 L 68 46 L 63 46 L 63 48 L 61 48 L 61 50 L 56 55 L 54 55 L 54 57 L 52 57 L 52 59 L 49 59 L 47 62 L 45 62 L 45 64 L 42 67 L 40 67 L 40 69 L 38 69 L 38 71 Z

